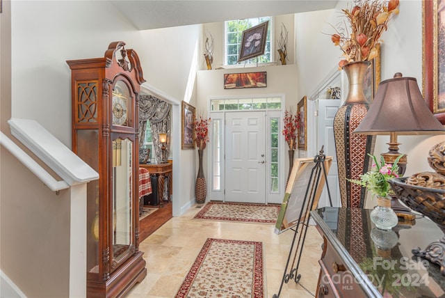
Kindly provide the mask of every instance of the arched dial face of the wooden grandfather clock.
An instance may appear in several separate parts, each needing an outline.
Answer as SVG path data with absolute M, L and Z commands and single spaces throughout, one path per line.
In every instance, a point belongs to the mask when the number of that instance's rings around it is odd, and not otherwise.
M 131 107 L 129 88 L 124 81 L 117 81 L 113 89 L 111 106 L 113 125 L 129 126 L 129 107 Z

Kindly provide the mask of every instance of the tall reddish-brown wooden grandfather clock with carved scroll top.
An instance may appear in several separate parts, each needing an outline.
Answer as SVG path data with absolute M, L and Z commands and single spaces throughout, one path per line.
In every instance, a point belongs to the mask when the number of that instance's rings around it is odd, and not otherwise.
M 99 173 L 87 187 L 87 297 L 120 297 L 147 275 L 139 251 L 136 52 L 112 42 L 71 69 L 72 150 Z

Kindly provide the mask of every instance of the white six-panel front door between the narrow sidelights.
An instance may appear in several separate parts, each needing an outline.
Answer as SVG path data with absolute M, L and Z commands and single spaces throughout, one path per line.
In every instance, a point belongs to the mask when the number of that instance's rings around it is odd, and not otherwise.
M 225 117 L 225 201 L 266 203 L 266 111 Z

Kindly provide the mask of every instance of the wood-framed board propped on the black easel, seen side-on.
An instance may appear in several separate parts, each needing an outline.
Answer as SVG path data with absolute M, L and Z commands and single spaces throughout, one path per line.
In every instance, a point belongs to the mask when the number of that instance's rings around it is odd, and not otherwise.
M 325 157 L 324 163 L 326 173 L 329 173 L 332 157 Z M 305 221 L 310 211 L 317 208 L 321 192 L 325 186 L 325 176 L 323 173 L 320 175 L 317 186 L 317 175 L 311 177 L 315 165 L 313 157 L 295 159 L 286 185 L 280 214 L 278 214 L 275 224 L 275 234 L 295 228 L 298 222 Z M 314 198 L 312 206 L 309 206 L 309 198 Z

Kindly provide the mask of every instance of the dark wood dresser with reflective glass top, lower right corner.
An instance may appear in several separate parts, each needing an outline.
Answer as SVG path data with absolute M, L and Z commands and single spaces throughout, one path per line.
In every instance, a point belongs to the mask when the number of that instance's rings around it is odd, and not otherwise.
M 316 297 L 445 297 L 439 265 L 413 256 L 444 235 L 428 218 L 375 228 L 371 210 L 323 207 L 311 212 L 323 237 Z

